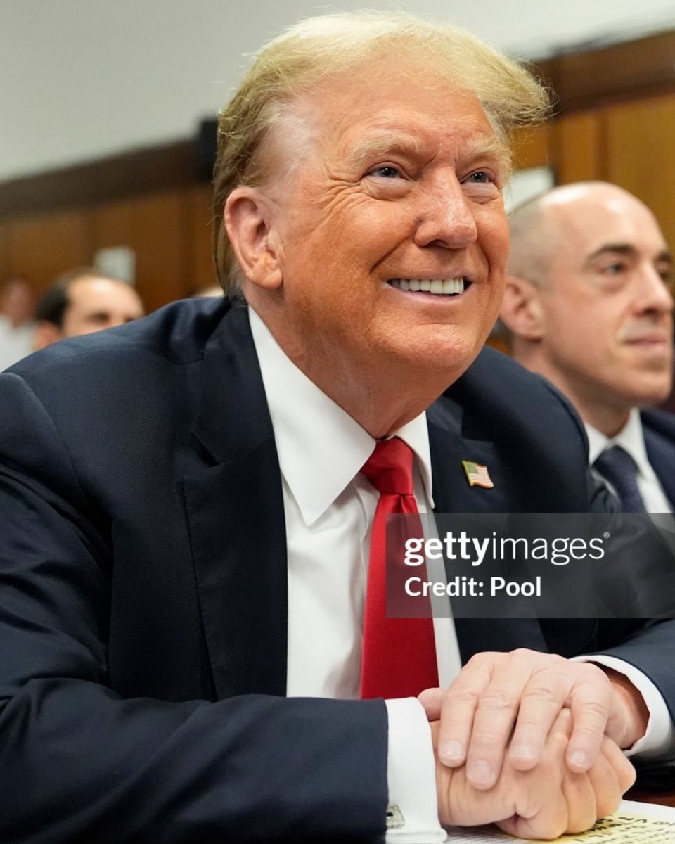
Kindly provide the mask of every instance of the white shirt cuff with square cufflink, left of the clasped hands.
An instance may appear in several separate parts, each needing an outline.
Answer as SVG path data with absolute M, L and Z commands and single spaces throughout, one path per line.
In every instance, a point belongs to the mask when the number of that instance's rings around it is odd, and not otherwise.
M 403 825 L 386 830 L 392 844 L 446 841 L 438 820 L 436 768 L 424 707 L 414 697 L 385 701 L 389 717 L 386 782 L 389 803 L 398 806 Z

